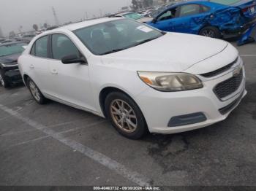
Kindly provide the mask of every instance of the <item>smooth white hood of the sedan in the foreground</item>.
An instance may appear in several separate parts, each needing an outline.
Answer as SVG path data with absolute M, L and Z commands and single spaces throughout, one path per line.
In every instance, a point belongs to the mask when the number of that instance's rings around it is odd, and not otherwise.
M 102 63 L 136 71 L 181 72 L 217 55 L 227 42 L 191 34 L 167 33 L 151 42 L 102 56 Z

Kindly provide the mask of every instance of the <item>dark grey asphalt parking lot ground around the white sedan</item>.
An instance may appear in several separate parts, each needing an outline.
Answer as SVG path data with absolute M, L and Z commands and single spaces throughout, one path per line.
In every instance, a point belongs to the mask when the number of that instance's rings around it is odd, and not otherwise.
M 256 43 L 238 47 L 248 95 L 223 122 L 132 141 L 100 117 L 0 87 L 0 185 L 256 186 Z

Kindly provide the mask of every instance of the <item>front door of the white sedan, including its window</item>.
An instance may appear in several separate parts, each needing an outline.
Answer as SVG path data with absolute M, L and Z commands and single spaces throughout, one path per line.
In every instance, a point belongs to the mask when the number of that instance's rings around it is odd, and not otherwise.
M 95 110 L 89 66 L 81 63 L 64 64 L 61 62 L 64 56 L 80 55 L 80 51 L 64 34 L 53 34 L 51 42 L 53 61 L 49 68 L 56 88 L 53 96 L 69 104 Z

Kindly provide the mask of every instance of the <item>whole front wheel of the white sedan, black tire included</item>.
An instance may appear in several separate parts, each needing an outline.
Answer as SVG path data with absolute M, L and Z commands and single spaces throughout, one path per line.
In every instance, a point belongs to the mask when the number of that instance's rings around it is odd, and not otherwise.
M 105 112 L 118 133 L 128 139 L 140 139 L 148 132 L 146 120 L 140 108 L 124 93 L 108 94 L 105 99 Z

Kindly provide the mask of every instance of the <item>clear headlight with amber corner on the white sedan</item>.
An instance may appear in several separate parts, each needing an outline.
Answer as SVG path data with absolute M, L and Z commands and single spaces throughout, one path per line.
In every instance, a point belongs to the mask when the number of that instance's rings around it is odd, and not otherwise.
M 138 75 L 147 85 L 163 92 L 194 90 L 203 87 L 199 78 L 187 73 L 138 71 Z

